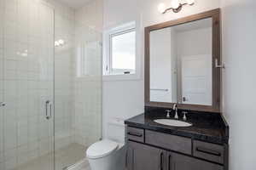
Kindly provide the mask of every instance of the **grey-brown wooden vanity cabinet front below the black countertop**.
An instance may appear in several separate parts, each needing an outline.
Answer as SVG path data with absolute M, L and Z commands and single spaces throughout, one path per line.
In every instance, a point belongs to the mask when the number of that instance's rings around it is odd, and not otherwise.
M 127 127 L 128 170 L 226 170 L 224 146 Z

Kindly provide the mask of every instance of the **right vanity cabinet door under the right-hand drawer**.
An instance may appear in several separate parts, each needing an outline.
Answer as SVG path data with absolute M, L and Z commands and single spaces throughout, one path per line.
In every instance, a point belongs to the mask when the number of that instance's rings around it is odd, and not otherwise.
M 224 167 L 208 161 L 169 152 L 167 170 L 224 170 Z

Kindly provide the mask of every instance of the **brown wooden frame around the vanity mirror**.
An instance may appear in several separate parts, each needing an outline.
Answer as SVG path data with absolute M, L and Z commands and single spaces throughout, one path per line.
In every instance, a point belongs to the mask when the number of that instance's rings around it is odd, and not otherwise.
M 190 111 L 220 112 L 221 110 L 221 68 L 215 65 L 215 59 L 221 62 L 220 9 L 213 9 L 201 14 L 193 14 L 178 20 L 171 20 L 145 28 L 145 106 L 170 108 L 174 103 L 150 101 L 150 31 L 177 26 L 196 20 L 212 18 L 212 105 L 177 104 L 178 109 Z

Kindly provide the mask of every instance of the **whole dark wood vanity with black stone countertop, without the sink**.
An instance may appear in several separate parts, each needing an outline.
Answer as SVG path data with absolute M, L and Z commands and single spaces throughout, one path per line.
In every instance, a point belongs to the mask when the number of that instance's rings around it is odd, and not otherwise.
M 154 109 L 125 121 L 128 170 L 228 170 L 229 126 L 215 113 L 190 113 L 192 127 L 169 127 Z M 180 113 L 181 115 L 181 113 Z

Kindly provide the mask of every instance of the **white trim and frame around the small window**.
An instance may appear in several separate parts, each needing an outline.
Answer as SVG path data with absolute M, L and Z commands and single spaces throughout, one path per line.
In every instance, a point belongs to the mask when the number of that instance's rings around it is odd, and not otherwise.
M 125 32 L 130 32 L 131 30 L 136 31 L 136 69 L 135 74 L 124 74 L 124 75 L 114 75 L 108 74 L 106 67 L 111 65 L 110 55 L 111 55 L 111 37 L 114 35 L 122 34 Z M 103 81 L 123 81 L 123 80 L 138 80 L 141 79 L 141 59 L 139 54 L 140 45 L 140 32 L 136 24 L 136 21 L 132 21 L 121 26 L 113 27 L 108 31 L 104 31 L 103 36 Z M 108 68 L 109 69 L 109 68 Z

